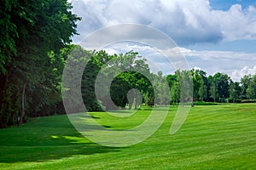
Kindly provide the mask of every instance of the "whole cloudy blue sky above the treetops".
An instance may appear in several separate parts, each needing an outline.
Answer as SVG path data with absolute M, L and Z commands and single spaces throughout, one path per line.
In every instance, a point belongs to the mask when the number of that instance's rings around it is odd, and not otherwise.
M 151 26 L 176 42 L 189 68 L 207 75 L 228 74 L 240 81 L 256 74 L 256 1 L 253 0 L 73 0 L 79 36 L 74 43 L 106 26 L 132 23 Z M 118 33 L 118 31 L 117 31 Z M 137 32 L 139 33 L 139 32 Z M 156 40 L 155 40 L 156 41 Z M 172 47 L 173 48 L 173 47 Z M 119 42 L 109 53 L 134 50 L 150 63 L 172 74 L 170 63 L 158 49 L 138 43 Z M 165 49 L 165 50 L 172 50 Z M 149 61 L 148 61 L 149 62 Z M 149 64 L 150 64 L 149 63 Z M 153 68 L 153 67 L 152 67 Z

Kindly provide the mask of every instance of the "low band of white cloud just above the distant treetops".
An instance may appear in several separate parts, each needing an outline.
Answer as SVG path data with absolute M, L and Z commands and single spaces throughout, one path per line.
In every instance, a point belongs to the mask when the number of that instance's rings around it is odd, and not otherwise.
M 148 65 L 152 68 L 152 71 L 162 71 L 164 74 L 173 74 L 179 65 L 186 65 L 186 63 L 188 63 L 190 69 L 207 71 L 208 75 L 224 72 L 234 81 L 240 81 L 244 75 L 256 73 L 256 53 L 196 51 L 176 47 L 166 49 L 168 51 L 166 54 L 172 54 L 166 58 L 154 48 L 137 44 L 127 45 L 125 43 L 115 44 L 106 48 L 106 50 L 117 54 L 131 50 L 137 51 L 148 59 Z

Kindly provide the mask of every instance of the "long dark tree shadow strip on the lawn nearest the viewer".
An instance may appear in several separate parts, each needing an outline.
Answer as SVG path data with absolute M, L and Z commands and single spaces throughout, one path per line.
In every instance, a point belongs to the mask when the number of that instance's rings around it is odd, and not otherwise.
M 10 149 L 11 148 L 11 149 Z M 97 144 L 73 144 L 61 146 L 0 146 L 2 155 L 1 163 L 15 163 L 18 161 L 54 161 L 65 157 L 80 155 L 93 155 L 118 151 L 114 148 L 104 147 Z

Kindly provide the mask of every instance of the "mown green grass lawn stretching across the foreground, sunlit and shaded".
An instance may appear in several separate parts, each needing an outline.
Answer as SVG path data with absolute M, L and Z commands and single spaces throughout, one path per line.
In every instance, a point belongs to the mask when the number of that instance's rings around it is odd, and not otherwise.
M 183 127 L 169 134 L 176 108 L 143 143 L 109 148 L 91 143 L 73 128 L 67 116 L 31 119 L 21 127 L 0 129 L 0 169 L 255 169 L 256 105 L 205 105 L 191 108 Z M 120 128 L 137 118 L 109 122 Z M 137 122 L 136 122 L 137 120 Z

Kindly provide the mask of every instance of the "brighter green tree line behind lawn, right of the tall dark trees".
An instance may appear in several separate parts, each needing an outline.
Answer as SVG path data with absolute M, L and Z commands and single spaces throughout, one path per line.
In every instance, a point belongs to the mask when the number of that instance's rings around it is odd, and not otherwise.
M 161 71 L 151 72 L 147 59 L 133 51 L 108 54 L 75 46 L 73 54 L 80 55 L 77 63 L 88 62 L 81 91 L 84 105 L 89 111 L 131 109 L 132 105 L 137 108 L 142 103 L 149 106 L 177 105 L 181 100 L 190 101 L 193 105 L 195 101 L 240 103 L 256 99 L 256 74 L 242 77 L 241 82 L 233 82 L 221 72 L 207 76 L 206 71 L 195 69 L 163 75 Z M 100 71 L 102 74 L 99 74 Z M 97 77 L 102 80 L 100 84 L 96 83 Z M 111 77 L 113 81 L 109 85 L 106 80 Z M 96 98 L 96 93 L 100 94 L 99 98 Z

